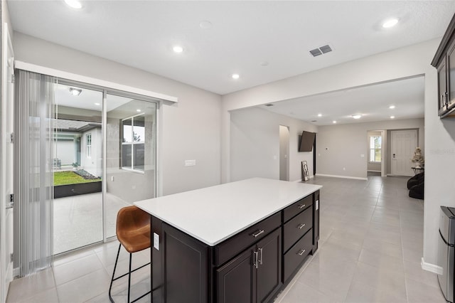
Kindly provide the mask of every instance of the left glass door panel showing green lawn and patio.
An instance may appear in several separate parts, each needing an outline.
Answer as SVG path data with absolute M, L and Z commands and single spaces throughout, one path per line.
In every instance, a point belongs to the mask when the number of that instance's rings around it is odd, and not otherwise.
M 102 100 L 102 90 L 57 85 L 52 159 L 54 255 L 103 240 Z

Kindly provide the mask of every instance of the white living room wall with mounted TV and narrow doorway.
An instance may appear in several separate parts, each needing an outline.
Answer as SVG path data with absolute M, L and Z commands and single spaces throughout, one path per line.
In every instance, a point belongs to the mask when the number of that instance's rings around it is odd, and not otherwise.
M 301 161 L 313 171 L 313 152 L 299 152 L 299 134 L 315 125 L 258 107 L 230 113 L 231 181 L 252 177 L 279 180 L 279 126 L 289 127 L 289 181 L 301 180 Z M 317 134 L 316 134 L 317 136 Z

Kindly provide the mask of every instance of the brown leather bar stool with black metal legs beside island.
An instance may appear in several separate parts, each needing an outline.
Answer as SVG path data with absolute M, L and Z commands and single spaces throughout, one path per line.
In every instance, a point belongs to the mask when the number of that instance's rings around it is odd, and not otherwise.
M 140 270 L 151 262 L 137 267 L 135 270 L 131 270 L 131 260 L 133 252 L 139 252 L 150 247 L 150 216 L 145 211 L 142 211 L 137 206 L 127 206 L 121 208 L 117 213 L 117 239 L 119 240 L 119 250 L 117 251 L 117 258 L 115 259 L 114 272 L 112 272 L 111 285 L 109 286 L 109 299 L 112 303 L 114 300 L 111 296 L 112 282 L 128 275 L 128 302 L 129 302 L 129 290 L 131 287 L 131 273 L 136 270 Z M 119 277 L 114 278 L 115 270 L 117 268 L 117 262 L 119 260 L 120 248 L 123 247 L 129 252 L 129 271 Z M 132 302 L 145 297 L 150 294 L 151 291 L 142 294 L 141 297 L 134 299 Z M 131 302 L 131 303 L 132 303 Z

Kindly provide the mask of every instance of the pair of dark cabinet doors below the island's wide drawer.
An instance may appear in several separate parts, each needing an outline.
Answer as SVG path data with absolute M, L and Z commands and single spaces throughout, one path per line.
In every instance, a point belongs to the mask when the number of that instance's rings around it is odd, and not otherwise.
M 282 285 L 281 228 L 216 270 L 217 302 L 268 302 Z

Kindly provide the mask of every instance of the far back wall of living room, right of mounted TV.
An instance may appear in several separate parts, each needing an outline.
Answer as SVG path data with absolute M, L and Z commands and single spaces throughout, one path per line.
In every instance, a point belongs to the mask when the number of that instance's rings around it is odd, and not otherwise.
M 424 148 L 423 118 L 320 126 L 316 140 L 316 174 L 366 178 L 365 142 L 371 129 L 419 129 L 422 136 L 419 142 Z M 387 159 L 390 154 L 385 154 L 385 161 L 389 163 Z

